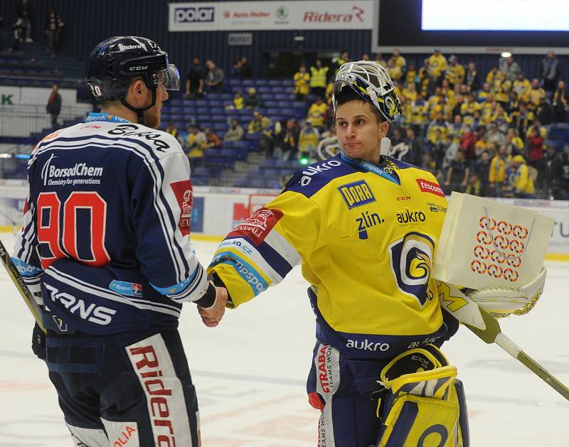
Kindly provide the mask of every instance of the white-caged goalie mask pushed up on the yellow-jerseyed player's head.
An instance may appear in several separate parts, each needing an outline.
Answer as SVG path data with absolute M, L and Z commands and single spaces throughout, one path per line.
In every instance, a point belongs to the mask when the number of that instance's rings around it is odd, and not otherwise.
M 334 80 L 334 112 L 338 106 L 338 95 L 346 87 L 350 87 L 363 101 L 373 104 L 388 122 L 401 116 L 401 104 L 395 95 L 395 85 L 385 68 L 378 63 L 359 60 L 341 65 Z

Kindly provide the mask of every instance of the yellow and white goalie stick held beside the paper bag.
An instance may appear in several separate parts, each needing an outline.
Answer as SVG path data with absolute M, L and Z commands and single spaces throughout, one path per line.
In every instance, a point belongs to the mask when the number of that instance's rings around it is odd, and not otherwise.
M 533 360 L 526 352 L 523 352 L 516 343 L 506 337 L 501 332 L 496 318 L 491 316 L 488 311 L 484 310 L 478 303 L 472 301 L 472 299 L 468 298 L 454 286 L 437 281 L 437 291 L 439 292 L 441 306 L 449 311 L 460 323 L 472 330 L 484 342 L 499 345 L 509 355 L 528 367 L 533 374 L 541 377 L 546 384 L 569 400 L 569 388 L 565 387 L 551 372 L 548 372 L 536 360 Z

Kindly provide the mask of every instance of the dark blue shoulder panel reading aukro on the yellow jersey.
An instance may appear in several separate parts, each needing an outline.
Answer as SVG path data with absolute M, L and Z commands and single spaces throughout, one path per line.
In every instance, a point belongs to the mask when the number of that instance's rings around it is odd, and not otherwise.
M 294 191 L 310 198 L 335 178 L 354 172 L 358 172 L 355 166 L 345 163 L 339 156 L 334 156 L 298 169 L 285 185 L 283 192 Z

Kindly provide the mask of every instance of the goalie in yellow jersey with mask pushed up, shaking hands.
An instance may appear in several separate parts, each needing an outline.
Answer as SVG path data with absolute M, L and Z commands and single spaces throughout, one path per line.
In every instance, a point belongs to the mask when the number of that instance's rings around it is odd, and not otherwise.
M 381 65 L 342 65 L 333 105 L 341 153 L 294 173 L 225 237 L 208 272 L 236 308 L 302 264 L 319 446 L 466 446 L 462 386 L 437 348 L 458 323 L 430 276 L 445 195 L 432 173 L 382 154 L 400 103 Z M 206 325 L 222 313 L 201 309 Z

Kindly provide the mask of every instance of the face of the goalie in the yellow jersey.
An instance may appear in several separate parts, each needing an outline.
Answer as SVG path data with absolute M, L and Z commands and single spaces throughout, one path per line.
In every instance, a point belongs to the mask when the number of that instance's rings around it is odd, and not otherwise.
M 387 135 L 388 122 L 378 122 L 372 105 L 353 100 L 336 109 L 336 136 L 350 158 L 378 163 L 381 139 Z

